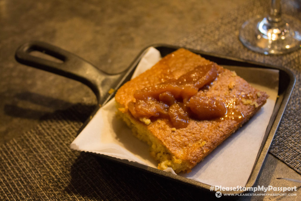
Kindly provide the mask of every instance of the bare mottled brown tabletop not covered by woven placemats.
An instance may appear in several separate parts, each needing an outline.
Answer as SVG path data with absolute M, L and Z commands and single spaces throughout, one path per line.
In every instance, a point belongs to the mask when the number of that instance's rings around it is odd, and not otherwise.
M 239 0 L 0 0 L 0 144 L 34 129 L 45 115 L 52 115 L 57 110 L 76 104 L 97 104 L 93 92 L 82 83 L 17 63 L 14 54 L 24 42 L 48 42 L 90 61 L 107 73 L 119 73 L 125 71 L 138 53 L 151 44 L 188 44 L 194 49 L 218 52 L 209 46 L 194 46 L 193 41 L 198 40 L 193 37 L 196 36 L 194 33 L 198 33 L 200 27 L 227 23 L 225 16 L 235 10 L 248 13 L 248 5 L 249 1 Z M 299 6 L 301 3 L 298 0 L 287 1 L 284 11 L 297 8 L 299 12 Z M 263 12 L 267 8 L 258 10 Z M 252 12 L 256 13 L 256 10 Z M 242 21 L 250 16 L 242 16 Z M 237 33 L 238 30 L 235 31 Z M 201 37 L 206 40 L 211 36 L 206 33 Z M 232 48 L 230 42 L 222 42 L 216 41 L 216 44 Z M 249 52 L 247 49 L 244 51 Z M 235 56 L 234 53 L 231 56 Z M 301 179 L 293 169 L 268 154 L 255 186 L 298 186 L 290 181 L 280 182 L 276 177 Z M 114 189 L 120 191 L 123 185 L 127 184 L 120 184 Z M 102 199 L 110 199 L 110 193 L 104 194 Z M 172 198 L 170 193 L 166 189 L 166 194 L 169 194 L 167 198 Z M 198 193 L 200 196 L 207 195 L 202 190 Z M 300 190 L 296 193 L 297 196 L 286 199 L 300 200 Z M 271 198 L 275 199 L 271 196 L 239 197 Z

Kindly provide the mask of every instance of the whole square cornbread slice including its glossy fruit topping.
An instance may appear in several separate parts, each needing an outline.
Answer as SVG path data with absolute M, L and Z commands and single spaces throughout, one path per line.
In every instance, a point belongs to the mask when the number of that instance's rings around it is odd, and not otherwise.
M 178 49 L 115 95 L 119 115 L 161 170 L 191 171 L 265 104 L 268 95 L 200 55 Z

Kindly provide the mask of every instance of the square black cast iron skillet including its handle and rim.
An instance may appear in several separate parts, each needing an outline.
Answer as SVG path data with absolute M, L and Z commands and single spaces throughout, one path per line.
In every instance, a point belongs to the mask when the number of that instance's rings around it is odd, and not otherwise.
M 178 46 L 171 46 L 165 44 L 157 44 L 152 46 L 157 50 L 159 50 L 162 57 L 181 48 Z M 96 111 L 101 107 L 101 105 L 107 103 L 115 95 L 115 93 L 112 94 L 107 93 L 110 88 L 114 88 L 116 91 L 126 81 L 130 80 L 133 72 L 135 71 L 135 68 L 137 67 L 138 62 L 145 54 L 147 48 L 148 47 L 143 49 L 140 52 L 140 54 L 135 58 L 135 60 L 132 62 L 132 64 L 130 64 L 128 71 L 123 72 L 121 74 L 106 74 L 100 71 L 92 64 L 90 64 L 89 62 L 85 61 L 82 58 L 79 58 L 78 56 L 70 52 L 52 46 L 48 43 L 39 42 L 39 41 L 27 42 L 21 45 L 16 51 L 15 58 L 21 64 L 25 64 L 28 66 L 32 66 L 34 68 L 39 68 L 45 71 L 62 75 L 71 78 L 73 80 L 80 81 L 85 85 L 87 85 L 88 87 L 90 87 L 92 91 L 95 93 L 99 105 L 93 112 L 92 114 L 93 116 L 96 113 Z M 249 67 L 270 68 L 270 69 L 279 70 L 279 90 L 278 90 L 279 97 L 276 100 L 272 117 L 269 121 L 264 139 L 262 141 L 261 147 L 259 149 L 259 153 L 257 155 L 256 162 L 253 166 L 253 171 L 246 184 L 246 187 L 252 187 L 262 167 L 265 156 L 268 153 L 268 149 L 272 143 L 273 137 L 275 135 L 275 132 L 278 128 L 285 107 L 287 105 L 287 102 L 292 93 L 296 81 L 295 76 L 290 70 L 279 66 L 272 66 L 272 65 L 256 63 L 252 61 L 245 61 L 242 59 L 219 56 L 219 55 L 209 54 L 206 52 L 201 52 L 193 49 L 188 49 L 188 50 L 196 54 L 199 54 L 202 57 L 209 59 L 210 61 L 214 61 L 219 65 L 238 66 L 244 68 L 249 68 Z M 59 59 L 61 62 L 51 61 L 49 59 L 46 59 L 45 57 L 42 58 L 42 57 L 34 56 L 33 54 L 30 54 L 33 51 L 38 51 L 46 55 L 50 55 L 56 59 Z M 88 122 L 89 120 L 87 120 L 83 124 L 83 126 L 80 128 L 78 133 L 80 133 L 80 131 L 88 124 Z M 144 171 L 148 171 L 166 177 L 168 179 L 179 181 L 204 190 L 208 190 L 208 191 L 210 190 L 209 189 L 210 185 L 203 184 L 198 181 L 194 181 L 192 179 L 188 179 L 165 171 L 161 171 L 156 168 L 151 168 L 146 165 L 141 165 L 136 162 L 129 162 L 128 160 L 116 159 L 107 155 L 100 155 L 100 156 L 125 165 L 129 165 L 138 169 L 142 169 Z M 232 192 L 227 191 L 227 193 L 243 193 L 243 192 L 245 191 L 232 191 Z

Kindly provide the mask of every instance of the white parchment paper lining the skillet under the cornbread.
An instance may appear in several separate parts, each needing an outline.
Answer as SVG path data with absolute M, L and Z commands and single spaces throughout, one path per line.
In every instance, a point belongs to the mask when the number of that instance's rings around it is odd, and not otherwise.
M 133 77 L 151 68 L 161 59 L 151 47 L 138 64 Z M 227 68 L 227 67 L 226 67 Z M 231 70 L 235 67 L 230 67 Z M 190 173 L 180 174 L 209 185 L 244 187 L 252 172 L 278 94 L 279 72 L 271 69 L 238 68 L 241 77 L 270 96 L 250 121 L 196 165 Z M 268 84 L 267 84 L 268 83 Z M 126 124 L 116 118 L 115 99 L 101 107 L 70 147 L 79 151 L 109 155 L 119 159 L 157 167 L 149 147 L 132 135 Z M 170 171 L 167 170 L 167 171 Z M 173 171 L 171 171 L 173 172 Z

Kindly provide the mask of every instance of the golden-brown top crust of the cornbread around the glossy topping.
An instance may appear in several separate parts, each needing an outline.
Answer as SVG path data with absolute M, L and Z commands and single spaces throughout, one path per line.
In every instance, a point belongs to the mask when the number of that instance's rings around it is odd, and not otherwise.
M 135 102 L 133 94 L 136 90 L 162 83 L 171 78 L 177 79 L 197 66 L 209 64 L 209 62 L 186 49 L 178 49 L 164 57 L 151 69 L 125 83 L 116 93 L 116 102 L 121 105 L 120 107 L 125 108 L 123 112 L 129 113 L 128 103 Z M 221 66 L 218 66 L 218 72 L 218 78 L 209 90 L 206 90 L 206 94 L 224 101 L 226 105 L 235 104 L 235 108 L 244 115 L 244 118 L 203 121 L 190 119 L 186 128 L 176 130 L 172 128 L 167 119 L 157 119 L 151 124 L 145 125 L 172 155 L 191 164 L 188 169 L 200 162 L 253 116 L 268 98 L 265 92 L 254 89 L 235 72 Z

